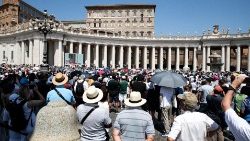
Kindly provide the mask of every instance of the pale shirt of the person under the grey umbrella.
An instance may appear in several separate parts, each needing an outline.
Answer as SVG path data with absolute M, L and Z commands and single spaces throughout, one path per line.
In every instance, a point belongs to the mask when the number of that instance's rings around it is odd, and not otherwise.
M 161 87 L 160 95 L 162 96 L 161 107 L 172 106 L 173 88 Z

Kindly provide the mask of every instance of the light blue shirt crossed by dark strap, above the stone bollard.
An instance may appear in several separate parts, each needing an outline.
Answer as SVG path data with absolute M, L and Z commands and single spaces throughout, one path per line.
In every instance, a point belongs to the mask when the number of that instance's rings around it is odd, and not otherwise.
M 61 93 L 61 95 L 70 103 L 75 103 L 75 98 L 71 90 L 63 88 L 63 86 L 57 86 L 56 89 Z M 57 92 L 53 89 L 48 92 L 46 102 L 63 100 Z M 64 100 L 63 100 L 64 101 Z

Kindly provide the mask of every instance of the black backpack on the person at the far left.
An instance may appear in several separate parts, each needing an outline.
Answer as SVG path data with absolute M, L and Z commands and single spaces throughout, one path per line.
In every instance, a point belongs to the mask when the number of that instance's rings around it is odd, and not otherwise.
M 11 119 L 11 127 L 15 131 L 25 129 L 31 116 L 30 114 L 29 119 L 25 119 L 23 105 L 27 102 L 27 100 L 23 99 L 20 103 L 17 103 L 18 99 L 20 99 L 20 97 L 17 97 L 14 101 L 9 101 L 6 105 L 6 109 L 9 112 Z

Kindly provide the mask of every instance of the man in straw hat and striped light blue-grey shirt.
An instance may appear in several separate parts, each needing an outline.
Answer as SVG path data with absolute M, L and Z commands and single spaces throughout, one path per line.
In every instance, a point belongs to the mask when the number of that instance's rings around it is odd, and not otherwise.
M 114 141 L 154 140 L 155 129 L 152 117 L 140 108 L 146 103 L 146 99 L 141 98 L 140 92 L 134 91 L 124 103 L 128 109 L 121 111 L 116 117 L 113 129 Z

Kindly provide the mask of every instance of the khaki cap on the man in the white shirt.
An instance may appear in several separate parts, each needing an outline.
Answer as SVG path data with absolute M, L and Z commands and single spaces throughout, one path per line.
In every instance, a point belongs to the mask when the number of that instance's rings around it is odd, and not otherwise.
M 188 92 L 184 94 L 178 94 L 177 97 L 179 99 L 184 100 L 183 103 L 186 106 L 191 107 L 191 108 L 196 108 L 198 99 L 195 94 Z

